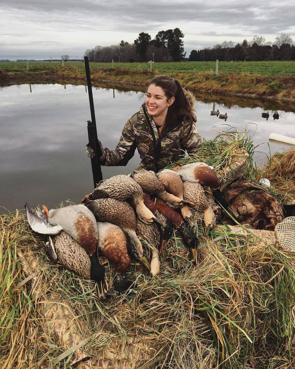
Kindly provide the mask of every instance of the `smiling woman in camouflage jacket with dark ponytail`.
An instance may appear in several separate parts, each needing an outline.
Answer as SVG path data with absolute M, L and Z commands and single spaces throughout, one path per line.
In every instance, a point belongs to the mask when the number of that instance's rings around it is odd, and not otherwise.
M 123 128 L 114 150 L 103 148 L 101 165 L 126 165 L 138 149 L 140 166 L 158 172 L 179 159 L 184 150 L 194 154 L 202 145 L 195 126 L 194 99 L 180 83 L 168 76 L 154 77 L 145 103 Z

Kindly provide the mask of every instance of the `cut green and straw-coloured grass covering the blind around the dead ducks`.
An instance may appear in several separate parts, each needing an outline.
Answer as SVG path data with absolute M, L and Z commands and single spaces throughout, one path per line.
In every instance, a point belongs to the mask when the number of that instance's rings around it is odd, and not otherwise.
M 244 176 L 258 179 L 254 146 L 237 132 L 180 164 L 222 171 L 241 150 L 249 154 Z M 197 265 L 175 234 L 158 276 L 132 264 L 136 288 L 98 301 L 92 282 L 49 261 L 24 214 L 2 214 L 0 367 L 294 368 L 295 254 L 222 224 L 209 239 L 201 224 L 198 232 Z

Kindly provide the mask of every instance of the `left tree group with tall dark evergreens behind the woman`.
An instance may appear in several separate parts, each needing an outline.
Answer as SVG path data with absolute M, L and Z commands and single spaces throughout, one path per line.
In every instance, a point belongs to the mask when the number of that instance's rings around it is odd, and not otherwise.
M 122 40 L 118 45 L 87 49 L 84 53 L 90 62 L 178 62 L 184 60 L 183 32 L 179 28 L 159 31 L 156 37 L 140 32 L 133 44 Z

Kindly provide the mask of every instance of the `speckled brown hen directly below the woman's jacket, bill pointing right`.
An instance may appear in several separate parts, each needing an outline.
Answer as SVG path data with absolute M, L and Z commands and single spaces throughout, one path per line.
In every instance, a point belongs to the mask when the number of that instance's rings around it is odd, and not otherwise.
M 163 184 L 157 178 L 156 173 L 152 170 L 140 169 L 138 171 L 134 171 L 132 178 L 140 185 L 143 192 L 150 195 L 155 194 L 156 197 L 159 197 L 173 207 L 182 206 L 181 199 L 168 193 Z

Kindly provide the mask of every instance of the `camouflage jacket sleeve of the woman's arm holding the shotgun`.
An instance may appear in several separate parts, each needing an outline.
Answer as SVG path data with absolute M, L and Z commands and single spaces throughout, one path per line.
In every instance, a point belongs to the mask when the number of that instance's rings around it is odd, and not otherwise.
M 103 149 L 103 156 L 100 159 L 101 165 L 126 165 L 134 155 L 137 145 L 131 119 L 132 117 L 125 124 L 116 148 L 114 150 L 107 147 Z

